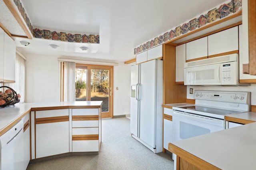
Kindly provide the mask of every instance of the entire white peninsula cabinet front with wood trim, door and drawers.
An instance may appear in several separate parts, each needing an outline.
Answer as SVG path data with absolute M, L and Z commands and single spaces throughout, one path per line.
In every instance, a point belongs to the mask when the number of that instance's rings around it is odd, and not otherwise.
M 30 137 L 28 132 L 26 137 Z M 101 108 L 31 111 L 31 141 L 32 159 L 68 152 L 98 152 Z M 24 148 L 30 144 L 24 143 Z

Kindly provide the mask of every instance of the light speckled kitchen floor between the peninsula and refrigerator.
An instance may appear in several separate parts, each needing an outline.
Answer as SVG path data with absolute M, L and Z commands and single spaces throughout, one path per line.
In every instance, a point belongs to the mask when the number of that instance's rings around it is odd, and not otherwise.
M 30 164 L 27 170 L 173 170 L 167 153 L 155 154 L 130 135 L 130 119 L 102 119 L 97 155 L 65 156 Z

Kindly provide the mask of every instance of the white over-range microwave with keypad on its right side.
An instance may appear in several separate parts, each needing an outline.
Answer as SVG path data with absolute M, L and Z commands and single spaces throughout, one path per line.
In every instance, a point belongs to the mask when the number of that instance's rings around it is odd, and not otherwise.
M 238 54 L 224 55 L 184 64 L 184 85 L 250 86 L 239 83 Z

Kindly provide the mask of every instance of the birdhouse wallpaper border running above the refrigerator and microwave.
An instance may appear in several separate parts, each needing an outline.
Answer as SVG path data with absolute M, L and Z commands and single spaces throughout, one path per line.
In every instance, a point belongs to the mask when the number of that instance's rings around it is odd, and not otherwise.
M 228 4 L 223 4 L 219 8 L 214 8 L 206 14 L 202 14 L 197 18 L 194 18 L 174 29 L 167 31 L 163 35 L 159 35 L 158 37 L 155 37 L 154 39 L 139 45 L 138 47 L 134 48 L 134 55 L 150 49 L 156 45 L 162 44 L 170 39 L 173 39 L 174 37 L 185 34 L 188 31 L 192 31 L 220 18 L 224 18 L 229 14 L 235 13 L 241 6 L 242 0 L 231 0 Z

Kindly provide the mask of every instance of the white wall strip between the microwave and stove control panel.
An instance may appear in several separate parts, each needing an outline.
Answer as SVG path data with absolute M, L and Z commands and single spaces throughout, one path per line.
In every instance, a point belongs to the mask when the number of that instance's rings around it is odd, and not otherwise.
M 194 99 L 194 94 L 189 94 L 189 88 L 193 88 L 193 90 L 251 92 L 251 105 L 256 105 L 256 84 L 251 84 L 251 86 L 187 86 L 187 98 Z

